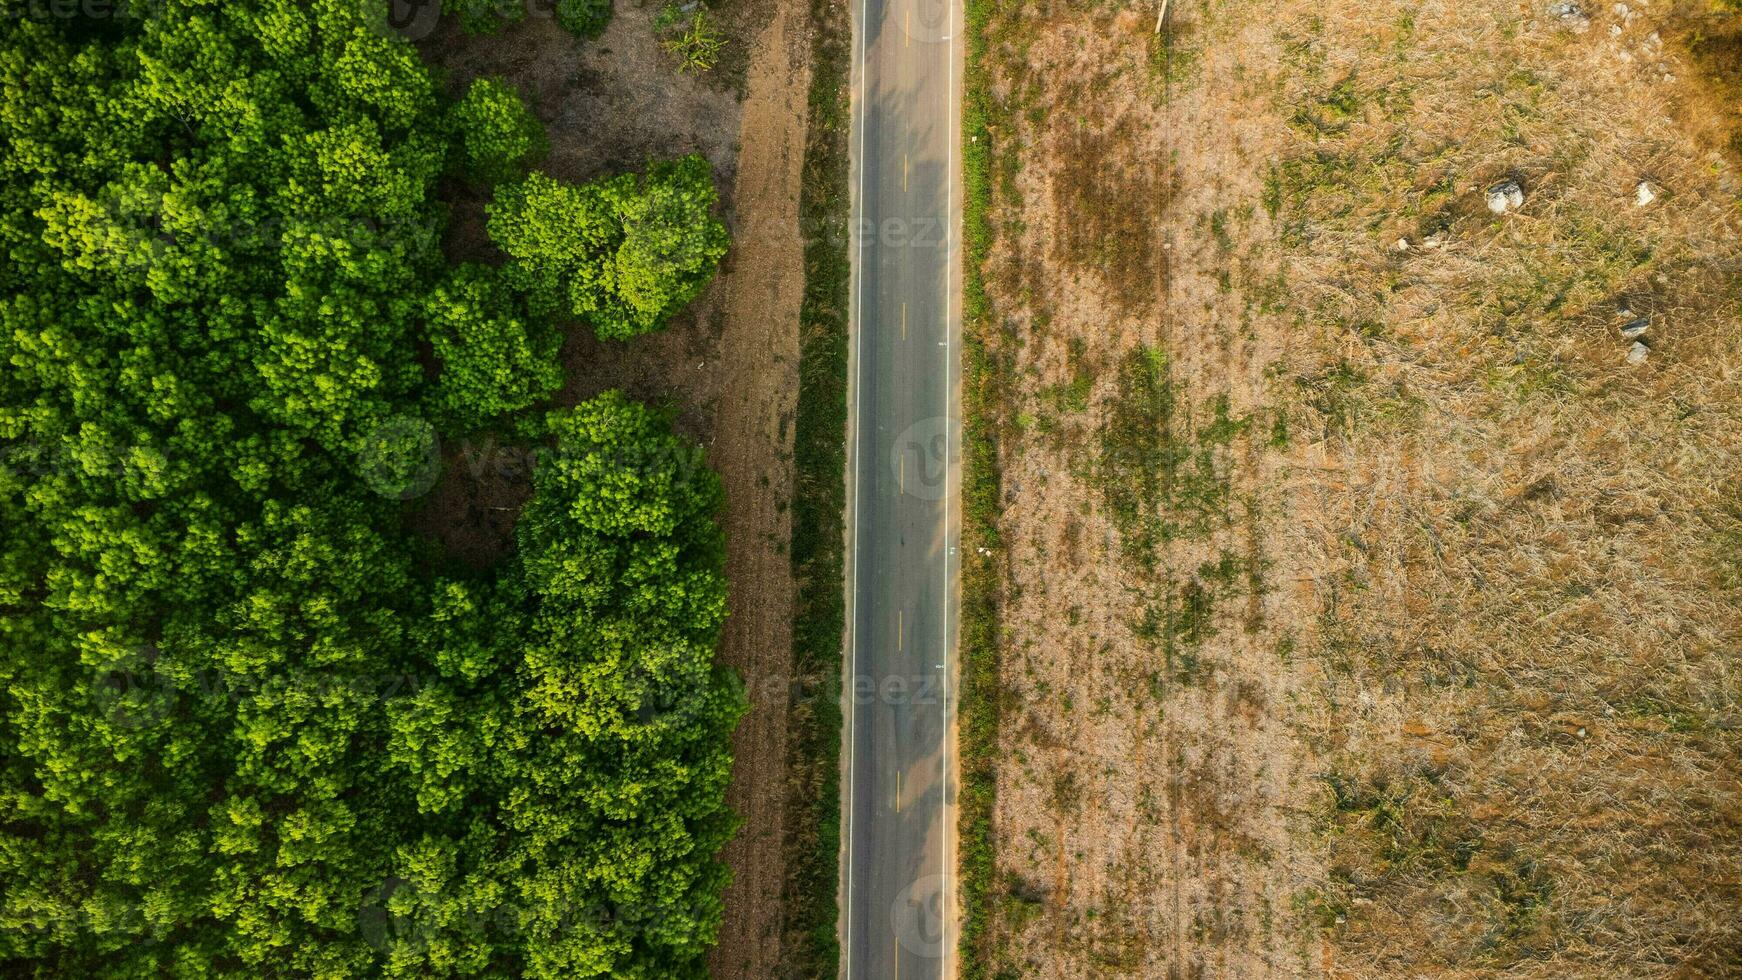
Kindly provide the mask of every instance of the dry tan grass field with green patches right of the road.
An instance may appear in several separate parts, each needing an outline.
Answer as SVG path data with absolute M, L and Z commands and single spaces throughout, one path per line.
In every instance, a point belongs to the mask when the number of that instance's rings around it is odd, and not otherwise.
M 1742 17 L 981 9 L 974 971 L 1742 975 Z

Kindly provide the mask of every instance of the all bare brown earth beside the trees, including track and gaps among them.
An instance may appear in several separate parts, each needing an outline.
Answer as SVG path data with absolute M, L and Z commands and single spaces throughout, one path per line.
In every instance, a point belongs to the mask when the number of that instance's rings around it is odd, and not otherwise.
M 448 68 L 456 87 L 476 75 L 517 85 L 545 122 L 550 157 L 544 169 L 557 178 L 585 181 L 692 151 L 714 165 L 733 240 L 719 277 L 671 327 L 632 343 L 598 341 L 585 327 L 571 329 L 557 402 L 622 388 L 671 404 L 679 430 L 707 447 L 709 465 L 725 480 L 732 592 L 719 656 L 746 679 L 751 710 L 733 738 L 728 802 L 744 825 L 723 855 L 733 881 L 711 971 L 728 980 L 761 978 L 780 956 L 786 879 L 787 507 L 805 275 L 798 193 L 808 7 L 791 0 L 721 5 L 714 14 L 728 52 L 719 70 L 700 77 L 679 75 L 658 47 L 655 10 L 620 2 L 610 30 L 592 42 L 575 40 L 540 16 L 484 38 L 449 24 L 425 54 Z M 462 188 L 455 197 L 449 251 L 488 258 L 483 200 Z M 505 547 L 524 500 L 526 472 L 517 461 L 524 461 L 521 454 L 484 446 L 458 449 L 432 493 L 425 526 L 460 557 Z

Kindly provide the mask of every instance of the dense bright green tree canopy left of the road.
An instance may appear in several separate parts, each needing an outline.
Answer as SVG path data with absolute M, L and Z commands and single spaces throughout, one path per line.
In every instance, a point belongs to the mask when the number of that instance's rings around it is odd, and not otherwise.
M 707 164 L 552 179 L 361 0 L 7 7 L 0 973 L 702 977 L 721 487 L 550 399 L 709 282 Z M 408 526 L 474 432 L 538 447 L 483 571 Z

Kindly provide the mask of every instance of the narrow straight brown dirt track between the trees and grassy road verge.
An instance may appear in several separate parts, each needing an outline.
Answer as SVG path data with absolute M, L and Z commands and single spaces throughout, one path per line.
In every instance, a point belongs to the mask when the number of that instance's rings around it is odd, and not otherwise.
M 718 359 L 737 369 L 716 404 L 711 460 L 726 484 L 732 613 L 721 658 L 749 688 L 733 738 L 726 801 L 744 818 L 726 846 L 726 919 L 709 957 L 714 977 L 766 978 L 780 959 L 780 844 L 786 811 L 786 708 L 793 656 L 793 416 L 798 308 L 805 289 L 798 228 L 810 87 L 808 14 L 782 0 L 751 52 L 739 131 L 737 223 Z

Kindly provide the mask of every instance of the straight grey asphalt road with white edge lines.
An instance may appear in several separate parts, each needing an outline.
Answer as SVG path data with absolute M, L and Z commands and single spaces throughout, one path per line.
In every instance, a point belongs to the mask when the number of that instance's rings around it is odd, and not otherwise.
M 854 364 L 841 973 L 955 975 L 955 0 L 852 0 Z

